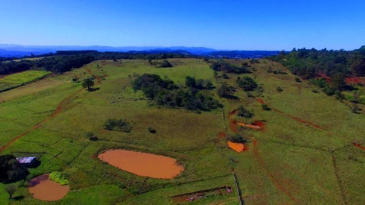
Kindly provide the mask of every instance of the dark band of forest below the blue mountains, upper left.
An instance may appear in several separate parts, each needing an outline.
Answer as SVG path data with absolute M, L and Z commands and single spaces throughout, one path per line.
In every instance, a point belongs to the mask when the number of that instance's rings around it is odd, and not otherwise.
M 45 57 L 47 56 L 47 57 Z M 117 59 L 167 59 L 193 57 L 185 54 L 160 53 L 145 54 L 135 52 L 97 52 L 97 51 L 57 51 L 55 54 L 39 55 L 32 57 L 45 57 L 39 60 L 21 60 L 19 62 L 1 62 L 0 74 L 20 72 L 31 68 L 43 68 L 54 73 L 62 73 L 72 68 L 79 68 L 95 60 Z M 162 62 L 162 67 L 171 67 L 168 61 Z

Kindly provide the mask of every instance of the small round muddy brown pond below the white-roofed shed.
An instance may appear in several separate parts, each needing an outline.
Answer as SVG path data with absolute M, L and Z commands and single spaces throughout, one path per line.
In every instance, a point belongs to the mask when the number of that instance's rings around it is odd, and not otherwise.
M 61 199 L 69 191 L 69 186 L 62 186 L 49 179 L 49 174 L 44 174 L 29 180 L 28 190 L 34 198 L 45 201 Z

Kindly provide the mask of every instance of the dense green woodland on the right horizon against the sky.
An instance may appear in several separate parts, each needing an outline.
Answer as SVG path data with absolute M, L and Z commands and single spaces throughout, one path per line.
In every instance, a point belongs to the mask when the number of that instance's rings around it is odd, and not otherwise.
M 293 49 L 277 56 L 269 57 L 290 69 L 291 72 L 306 78 L 315 77 L 317 73 L 334 76 L 338 72 L 345 75 L 365 74 L 365 46 L 353 51 Z

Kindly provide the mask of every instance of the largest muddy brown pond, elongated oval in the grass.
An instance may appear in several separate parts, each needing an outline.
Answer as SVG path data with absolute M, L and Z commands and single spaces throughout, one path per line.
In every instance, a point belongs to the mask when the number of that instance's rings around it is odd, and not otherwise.
M 184 167 L 178 165 L 176 159 L 151 153 L 112 149 L 99 154 L 98 158 L 141 177 L 173 179 L 184 171 Z

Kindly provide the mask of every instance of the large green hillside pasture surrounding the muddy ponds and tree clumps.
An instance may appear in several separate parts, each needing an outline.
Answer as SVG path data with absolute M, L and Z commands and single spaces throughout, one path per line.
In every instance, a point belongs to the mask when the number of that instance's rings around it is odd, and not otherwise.
M 351 113 L 346 105 L 323 93 L 312 93 L 311 85 L 305 80 L 296 82 L 289 72 L 268 73 L 269 66 L 280 67 L 274 62 L 261 60 L 251 65 L 257 70 L 253 73 L 229 73 L 229 79 L 215 79 L 209 64 L 201 59 L 169 61 L 174 67 L 156 68 L 147 60 L 96 61 L 0 93 L 0 146 L 6 147 L 1 154 L 40 156 L 41 165 L 29 170 L 28 179 L 62 171 L 71 191 L 55 204 L 172 204 L 172 196 L 225 185 L 233 188 L 232 194 L 185 203 L 237 204 L 231 168 L 247 204 L 365 201 L 365 151 L 352 144 L 365 143 L 363 115 Z M 184 85 L 187 75 L 210 79 L 215 87 L 236 87 L 238 76 L 251 76 L 265 91 L 247 97 L 236 88 L 238 99 L 220 98 L 224 107 L 209 112 L 167 109 L 133 91 L 134 76 L 143 73 L 166 76 L 178 85 Z M 102 78 L 95 85 L 99 90 L 87 92 L 81 83 L 72 83 L 74 76 L 82 80 L 91 74 Z M 37 83 L 39 87 L 32 86 Z M 276 91 L 278 86 L 282 92 Z M 215 89 L 209 92 L 218 98 Z M 271 110 L 263 110 L 260 100 Z M 252 120 L 265 121 L 265 128 L 238 128 L 238 134 L 249 140 L 248 150 L 238 153 L 217 135 L 236 134 L 230 121 L 244 119 L 229 113 L 240 105 L 252 109 Z M 105 131 L 102 125 L 108 118 L 133 122 L 132 132 Z M 157 133 L 151 134 L 149 127 Z M 87 132 L 95 133 L 98 141 L 87 139 Z M 173 180 L 145 181 L 94 157 L 110 148 L 173 157 L 185 171 Z M 17 186 L 18 199 L 8 200 L 2 191 L 5 185 L 0 184 L 1 204 L 46 204 L 32 198 L 24 183 Z

